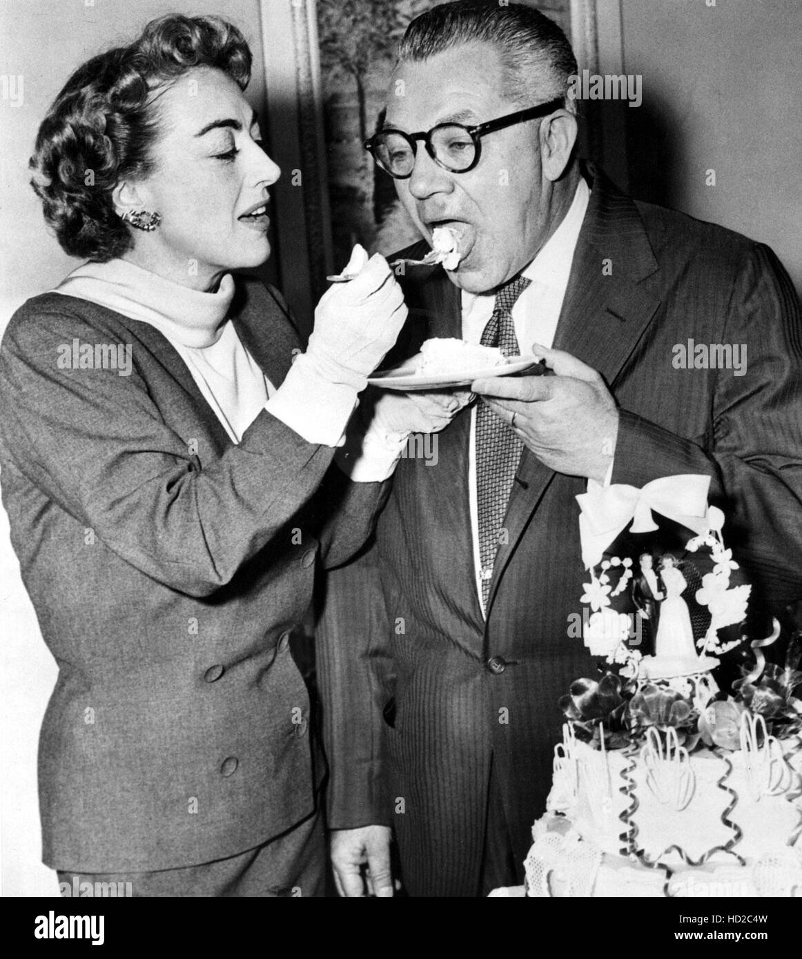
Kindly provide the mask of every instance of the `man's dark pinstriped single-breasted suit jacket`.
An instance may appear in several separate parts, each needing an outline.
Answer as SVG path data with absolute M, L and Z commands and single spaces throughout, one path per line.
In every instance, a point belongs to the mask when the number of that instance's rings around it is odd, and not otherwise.
M 408 352 L 460 337 L 460 291 L 442 269 L 411 270 L 405 293 Z M 746 375 L 674 368 L 688 339 L 747 343 Z M 725 536 L 768 599 L 802 596 L 802 326 L 771 251 L 598 176 L 554 347 L 598 369 L 620 405 L 612 482 L 709 475 Z M 491 761 L 523 862 L 561 738 L 557 699 L 598 675 L 569 632 L 585 479 L 524 451 L 485 621 L 469 423 L 462 411 L 439 434 L 436 466 L 401 460 L 374 547 L 329 578 L 318 635 L 330 825 L 392 825 L 413 895 L 477 894 Z

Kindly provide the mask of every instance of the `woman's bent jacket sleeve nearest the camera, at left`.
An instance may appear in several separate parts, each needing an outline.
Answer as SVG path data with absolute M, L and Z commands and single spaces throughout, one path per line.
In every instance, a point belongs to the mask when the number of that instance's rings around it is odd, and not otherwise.
M 60 368 L 59 345 L 99 333 L 23 308 L 0 350 L 0 436 L 17 467 L 136 569 L 208 596 L 318 489 L 333 450 L 262 410 L 238 446 L 203 464 L 168 427 L 137 369 Z M 283 544 L 282 544 L 283 546 Z

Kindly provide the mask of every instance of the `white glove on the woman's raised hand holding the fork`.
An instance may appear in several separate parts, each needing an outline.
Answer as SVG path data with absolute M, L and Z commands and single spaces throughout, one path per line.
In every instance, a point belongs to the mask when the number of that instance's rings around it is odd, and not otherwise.
M 344 272 L 355 278 L 334 284 L 320 297 L 304 356 L 330 382 L 362 390 L 398 338 L 407 306 L 387 260 L 378 253 L 368 260 L 357 244 Z

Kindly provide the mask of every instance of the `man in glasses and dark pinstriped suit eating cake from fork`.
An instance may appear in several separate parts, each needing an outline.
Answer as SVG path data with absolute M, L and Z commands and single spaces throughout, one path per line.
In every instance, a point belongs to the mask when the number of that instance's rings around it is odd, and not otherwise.
M 319 669 L 346 895 L 361 894 L 364 864 L 391 895 L 390 828 L 413 896 L 522 880 L 557 699 L 597 671 L 568 629 L 589 481 L 709 475 L 768 599 L 802 595 L 790 280 L 766 246 L 583 176 L 564 99 L 576 73 L 564 35 L 530 8 L 438 6 L 404 37 L 371 143 L 426 239 L 437 225 L 460 235 L 458 269 L 408 269 L 407 350 L 496 342 L 554 375 L 475 382 L 481 402 L 440 433 L 436 468 L 402 460 L 375 546 L 329 580 Z M 504 118 L 483 135 L 437 131 Z M 748 342 L 747 374 L 673 368 L 690 338 Z

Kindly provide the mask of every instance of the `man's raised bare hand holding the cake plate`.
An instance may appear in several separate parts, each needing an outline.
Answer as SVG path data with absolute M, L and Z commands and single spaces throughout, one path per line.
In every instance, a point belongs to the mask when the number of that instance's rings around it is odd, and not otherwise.
M 600 374 L 570 353 L 537 343 L 532 353 L 556 375 L 494 377 L 471 389 L 550 469 L 603 482 L 618 438 L 615 400 Z

